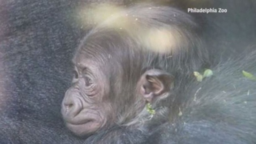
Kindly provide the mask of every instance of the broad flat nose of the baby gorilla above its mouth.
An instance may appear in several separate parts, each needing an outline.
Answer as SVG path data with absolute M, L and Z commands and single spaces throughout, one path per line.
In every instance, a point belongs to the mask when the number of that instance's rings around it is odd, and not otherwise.
M 62 101 L 62 116 L 66 121 L 72 121 L 72 119 L 78 115 L 83 109 L 83 103 L 79 98 L 78 92 L 75 90 L 67 90 L 65 97 Z

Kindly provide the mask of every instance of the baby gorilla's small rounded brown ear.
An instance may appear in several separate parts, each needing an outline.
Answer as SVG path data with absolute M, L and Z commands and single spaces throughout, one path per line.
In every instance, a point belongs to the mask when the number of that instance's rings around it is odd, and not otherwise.
M 173 87 L 173 76 L 159 69 L 146 71 L 138 82 L 140 94 L 148 101 L 152 102 L 156 97 L 165 97 Z

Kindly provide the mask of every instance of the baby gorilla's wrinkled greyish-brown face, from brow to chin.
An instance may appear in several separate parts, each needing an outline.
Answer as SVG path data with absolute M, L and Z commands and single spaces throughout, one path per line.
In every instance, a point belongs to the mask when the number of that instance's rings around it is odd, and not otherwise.
M 66 91 L 62 102 L 66 125 L 79 136 L 97 131 L 111 120 L 111 107 L 104 101 L 109 93 L 109 82 L 95 61 L 85 57 L 85 54 L 77 54 L 74 58 L 73 85 Z

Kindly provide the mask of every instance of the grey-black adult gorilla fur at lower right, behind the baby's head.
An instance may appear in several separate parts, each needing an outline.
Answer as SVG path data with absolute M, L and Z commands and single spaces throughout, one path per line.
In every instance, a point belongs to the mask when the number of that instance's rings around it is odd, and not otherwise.
M 242 70 L 256 73 L 256 51 L 241 54 L 212 68 L 214 76 L 192 81 L 177 96 L 183 113 L 174 123 L 152 132 L 145 144 L 254 144 L 256 143 L 256 81 Z M 196 100 L 194 100 L 196 97 Z

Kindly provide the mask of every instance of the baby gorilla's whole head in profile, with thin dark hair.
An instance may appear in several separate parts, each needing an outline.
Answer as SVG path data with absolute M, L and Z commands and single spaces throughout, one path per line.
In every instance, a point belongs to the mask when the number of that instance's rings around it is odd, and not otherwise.
M 73 58 L 73 85 L 62 102 L 67 127 L 79 136 L 105 130 L 110 139 L 124 135 L 123 127 L 142 132 L 173 121 L 171 114 L 179 111 L 170 107 L 175 91 L 183 90 L 191 73 L 208 61 L 197 31 L 184 12 L 148 5 L 123 10 L 98 25 Z M 135 133 L 129 141 L 139 142 L 144 135 Z

